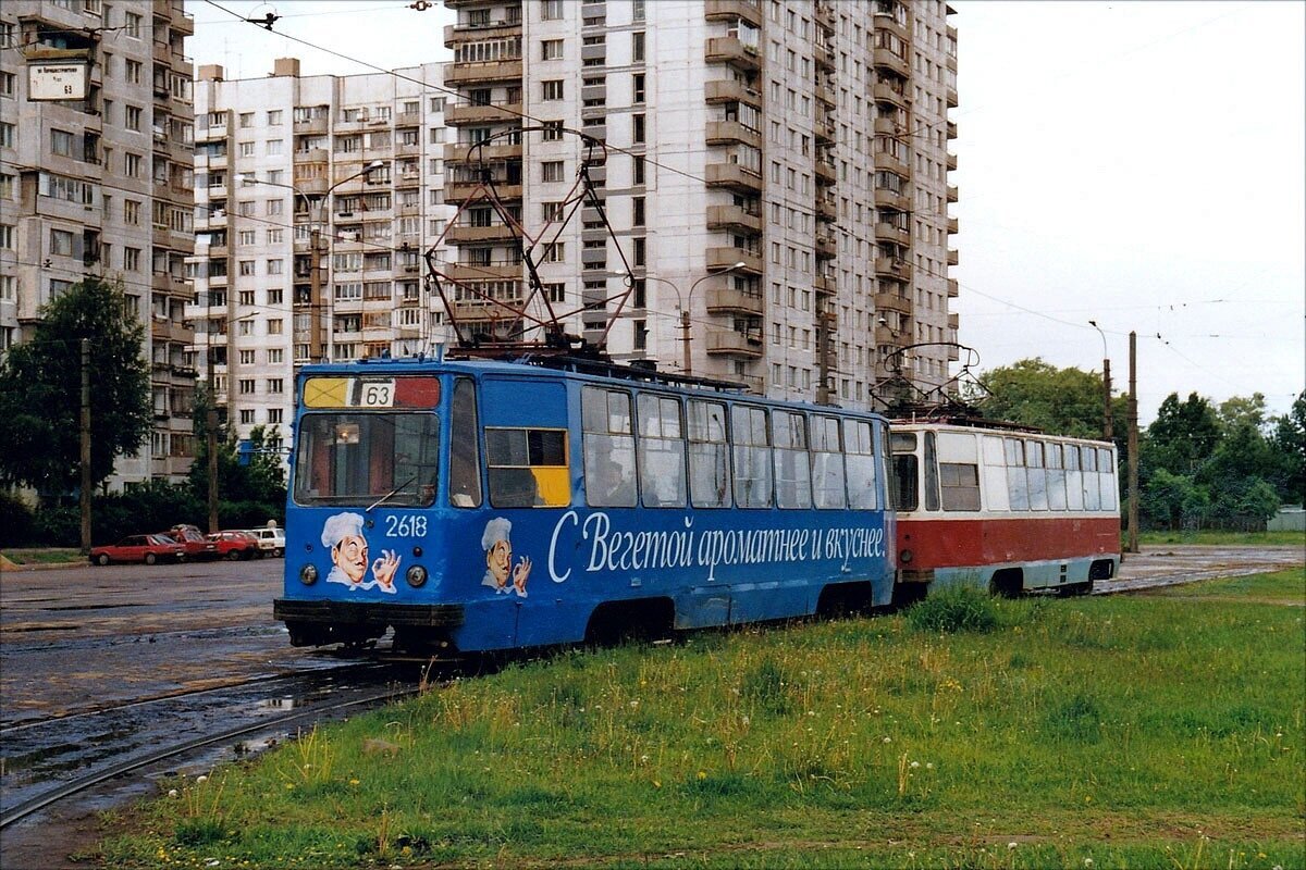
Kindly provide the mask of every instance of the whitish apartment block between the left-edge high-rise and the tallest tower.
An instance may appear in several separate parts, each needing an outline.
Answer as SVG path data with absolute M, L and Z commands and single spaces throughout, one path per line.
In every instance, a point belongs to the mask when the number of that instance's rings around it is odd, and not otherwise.
M 423 253 L 445 228 L 441 67 L 195 86 L 195 360 L 238 436 L 282 446 L 310 361 L 430 352 Z

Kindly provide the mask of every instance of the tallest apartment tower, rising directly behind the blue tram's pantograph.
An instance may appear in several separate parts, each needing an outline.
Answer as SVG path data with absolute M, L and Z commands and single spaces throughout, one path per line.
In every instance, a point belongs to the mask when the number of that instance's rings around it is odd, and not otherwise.
M 445 7 L 457 22 L 445 29 L 444 81 L 458 91 L 444 115 L 447 200 L 468 203 L 449 231 L 460 282 L 528 299 L 513 233 L 468 200 L 483 168 L 469 146 L 495 137 L 490 171 L 530 231 L 558 211 L 582 155 L 555 128 L 577 129 L 610 146 L 589 172 L 616 241 L 584 209 L 539 256 L 568 331 L 607 330 L 618 359 L 846 407 L 870 407 L 900 360 L 922 386 L 947 380 L 957 94 L 944 3 Z M 615 245 L 635 273 L 620 312 Z M 492 333 L 496 310 L 462 295 L 452 313 Z

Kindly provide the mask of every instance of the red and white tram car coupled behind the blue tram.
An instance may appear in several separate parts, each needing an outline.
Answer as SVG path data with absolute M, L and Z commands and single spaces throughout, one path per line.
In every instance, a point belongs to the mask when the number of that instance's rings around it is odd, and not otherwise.
M 1115 577 L 1115 447 L 965 421 L 892 424 L 899 584 L 1084 593 Z

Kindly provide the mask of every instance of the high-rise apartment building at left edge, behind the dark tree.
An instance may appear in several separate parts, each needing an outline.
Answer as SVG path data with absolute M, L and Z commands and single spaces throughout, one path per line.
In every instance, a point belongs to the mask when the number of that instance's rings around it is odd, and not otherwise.
M 154 428 L 119 459 L 115 489 L 180 480 L 195 453 L 193 33 L 182 0 L 0 5 L 0 352 L 84 275 L 121 280 L 146 325 Z

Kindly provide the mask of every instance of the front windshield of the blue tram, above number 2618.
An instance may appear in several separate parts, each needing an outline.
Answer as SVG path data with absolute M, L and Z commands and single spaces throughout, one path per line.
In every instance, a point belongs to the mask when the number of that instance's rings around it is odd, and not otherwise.
M 426 507 L 439 457 L 434 413 L 308 413 L 295 446 L 295 503 Z

